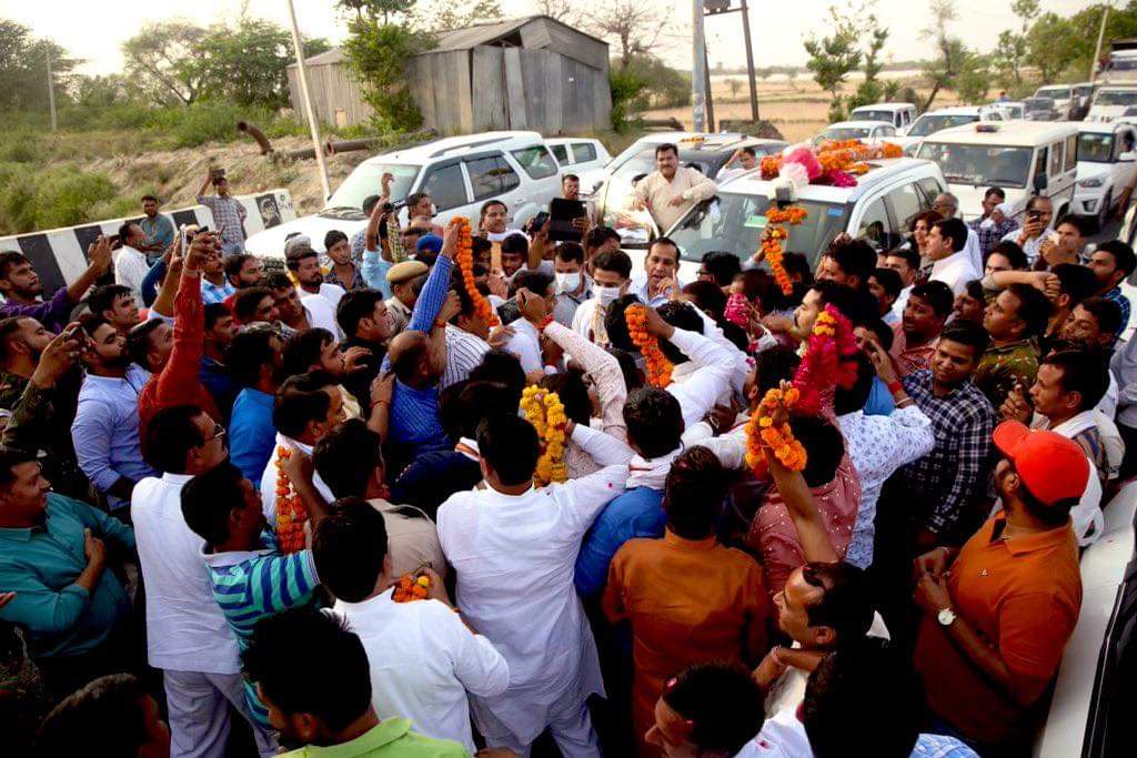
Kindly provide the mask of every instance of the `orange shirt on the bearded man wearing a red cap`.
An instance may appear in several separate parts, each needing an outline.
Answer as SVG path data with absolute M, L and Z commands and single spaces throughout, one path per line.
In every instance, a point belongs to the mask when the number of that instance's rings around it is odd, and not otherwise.
M 1001 511 L 968 540 L 947 589 L 955 613 L 998 650 L 1012 692 L 990 683 L 931 614 L 924 614 L 915 652 L 931 709 L 986 744 L 1029 740 L 1031 706 L 1057 673 L 1081 608 L 1078 543 L 1069 523 L 1011 539 L 1002 536 L 1005 525 Z

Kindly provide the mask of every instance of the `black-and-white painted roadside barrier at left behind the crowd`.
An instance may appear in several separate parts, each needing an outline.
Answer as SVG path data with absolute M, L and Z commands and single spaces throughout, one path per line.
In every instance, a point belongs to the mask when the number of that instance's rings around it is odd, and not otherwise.
M 248 235 L 296 218 L 292 195 L 288 190 L 275 189 L 257 194 L 234 197 L 248 211 L 244 219 L 244 232 Z M 175 228 L 182 224 L 207 225 L 210 228 L 217 228 L 213 213 L 205 206 L 164 211 L 164 215 L 174 222 Z M 27 256 L 40 275 L 44 294 L 51 297 L 52 292 L 74 282 L 86 269 L 86 249 L 94 242 L 96 238 L 100 234 L 117 234 L 118 227 L 127 218 L 136 219 L 140 217 L 111 218 L 44 232 L 2 236 L 0 238 L 0 250 L 19 250 Z

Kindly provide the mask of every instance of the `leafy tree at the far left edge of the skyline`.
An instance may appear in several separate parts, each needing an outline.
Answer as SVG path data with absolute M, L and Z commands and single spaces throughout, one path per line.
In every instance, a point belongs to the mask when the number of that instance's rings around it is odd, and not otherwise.
M 36 40 L 28 27 L 0 19 L 0 111 L 47 110 L 48 56 L 56 92 L 63 92 L 78 61 L 49 40 Z

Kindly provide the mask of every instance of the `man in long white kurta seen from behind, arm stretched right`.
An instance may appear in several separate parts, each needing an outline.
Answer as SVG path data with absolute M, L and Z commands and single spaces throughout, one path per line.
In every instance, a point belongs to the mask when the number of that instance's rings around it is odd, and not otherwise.
M 490 747 L 529 755 L 548 726 L 566 758 L 597 758 L 586 700 L 604 683 L 573 567 L 596 515 L 624 491 L 628 466 L 534 489 L 537 431 L 513 415 L 483 420 L 478 449 L 482 489 L 438 510 L 458 607 L 509 665 L 504 693 L 473 699 L 474 720 Z

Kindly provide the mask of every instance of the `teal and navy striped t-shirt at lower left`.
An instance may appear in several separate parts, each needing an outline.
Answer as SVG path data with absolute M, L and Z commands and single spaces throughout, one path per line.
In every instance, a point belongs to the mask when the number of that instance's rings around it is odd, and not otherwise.
M 205 556 L 214 599 L 242 651 L 249 645 L 257 622 L 308 605 L 319 585 L 312 550 L 284 555 L 276 549 L 275 541 L 265 541 L 272 547 Z M 268 727 L 268 710 L 248 681 L 244 682 L 244 700 L 250 715 Z

